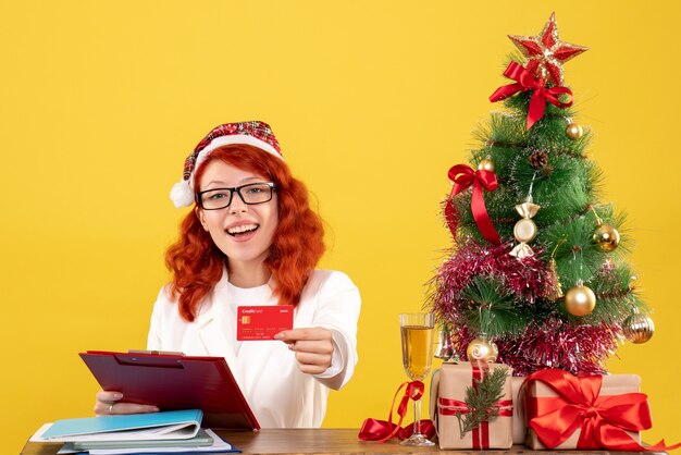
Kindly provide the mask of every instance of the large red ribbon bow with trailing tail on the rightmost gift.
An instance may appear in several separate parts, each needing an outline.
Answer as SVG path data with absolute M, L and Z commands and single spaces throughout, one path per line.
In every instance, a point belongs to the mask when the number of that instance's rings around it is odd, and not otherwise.
M 530 374 L 525 383 L 531 381 L 542 381 L 558 394 L 550 397 L 525 396 L 529 426 L 548 448 L 562 444 L 577 430 L 581 430 L 578 450 L 656 452 L 681 446 L 666 446 L 661 440 L 644 447 L 627 433 L 653 426 L 647 396 L 643 393 L 599 396 L 603 377 L 577 378 L 558 369 Z

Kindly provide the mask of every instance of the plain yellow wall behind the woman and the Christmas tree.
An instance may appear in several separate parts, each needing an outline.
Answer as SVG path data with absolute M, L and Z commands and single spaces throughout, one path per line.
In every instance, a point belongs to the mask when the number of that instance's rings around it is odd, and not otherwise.
M 672 1 L 3 1 L 0 5 L 0 441 L 91 414 L 77 353 L 144 347 L 184 210 L 169 198 L 214 125 L 273 125 L 329 225 L 322 266 L 361 290 L 360 362 L 326 427 L 385 418 L 405 380 L 397 313 L 424 302 L 450 239 L 450 165 L 496 106 L 513 50 L 556 9 L 605 196 L 629 212 L 655 337 L 614 372 L 643 377 L 678 440 L 678 17 Z

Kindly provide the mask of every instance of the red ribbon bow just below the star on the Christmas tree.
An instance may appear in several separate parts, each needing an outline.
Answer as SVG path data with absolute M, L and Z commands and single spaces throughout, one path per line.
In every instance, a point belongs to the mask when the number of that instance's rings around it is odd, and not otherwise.
M 557 86 L 546 88 L 544 87 L 545 81 L 543 78 L 540 77 L 535 79 L 521 64 L 510 62 L 504 75 L 517 81 L 516 84 L 504 85 L 497 88 L 490 97 L 490 101 L 502 101 L 516 95 L 518 91 L 534 90 L 532 99 L 530 100 L 530 109 L 528 110 L 528 130 L 530 130 L 537 120 L 544 116 L 546 101 L 560 109 L 572 106 L 572 91 L 568 87 Z M 564 94 L 569 95 L 570 100 L 568 102 L 562 102 L 558 99 L 558 96 Z

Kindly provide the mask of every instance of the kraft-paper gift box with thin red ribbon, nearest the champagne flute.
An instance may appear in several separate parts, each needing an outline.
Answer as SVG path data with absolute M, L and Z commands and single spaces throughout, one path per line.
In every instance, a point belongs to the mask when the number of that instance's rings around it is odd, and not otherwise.
M 512 370 L 498 364 L 491 364 L 487 368 L 488 370 L 467 361 L 443 364 L 433 374 L 430 408 L 431 418 L 437 429 L 439 448 L 509 448 L 513 444 L 510 381 Z M 493 405 L 498 411 L 497 417 L 461 434 L 459 418 L 471 411 L 465 402 L 467 389 L 473 386 L 474 379 L 481 380 L 484 374 L 490 374 L 498 368 L 506 369 L 507 374 L 502 388 L 503 396 Z

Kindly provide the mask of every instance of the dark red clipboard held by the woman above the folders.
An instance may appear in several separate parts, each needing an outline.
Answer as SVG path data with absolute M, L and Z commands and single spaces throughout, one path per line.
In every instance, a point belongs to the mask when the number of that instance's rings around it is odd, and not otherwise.
M 106 351 L 79 356 L 102 390 L 123 393 L 122 403 L 161 410 L 199 408 L 205 428 L 260 429 L 223 357 Z

